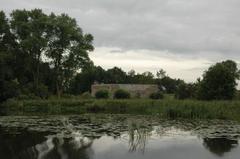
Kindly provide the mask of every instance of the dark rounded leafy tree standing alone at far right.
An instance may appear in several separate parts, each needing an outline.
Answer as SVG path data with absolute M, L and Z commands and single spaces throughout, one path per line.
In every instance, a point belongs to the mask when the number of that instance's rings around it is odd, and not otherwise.
M 239 70 L 234 61 L 227 60 L 211 66 L 199 82 L 198 98 L 230 100 L 236 93 Z

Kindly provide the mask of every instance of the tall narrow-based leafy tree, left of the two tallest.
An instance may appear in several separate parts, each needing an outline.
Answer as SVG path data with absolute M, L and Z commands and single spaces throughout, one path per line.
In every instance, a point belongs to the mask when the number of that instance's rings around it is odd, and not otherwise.
M 40 65 L 47 46 L 47 15 L 41 9 L 15 10 L 11 13 L 11 29 L 16 36 L 21 61 L 32 74 L 34 89 L 39 86 Z

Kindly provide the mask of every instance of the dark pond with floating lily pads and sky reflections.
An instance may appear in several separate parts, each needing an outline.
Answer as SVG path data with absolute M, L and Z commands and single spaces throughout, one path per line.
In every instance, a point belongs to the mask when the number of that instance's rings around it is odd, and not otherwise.
M 233 121 L 0 117 L 0 159 L 239 159 L 239 138 Z

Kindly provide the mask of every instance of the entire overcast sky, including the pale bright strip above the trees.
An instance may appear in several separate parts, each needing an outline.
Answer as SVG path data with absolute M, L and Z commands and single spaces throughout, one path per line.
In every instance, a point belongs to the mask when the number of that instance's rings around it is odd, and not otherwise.
M 67 13 L 94 36 L 103 68 L 163 68 L 195 81 L 210 65 L 240 61 L 240 0 L 1 0 L 0 9 Z

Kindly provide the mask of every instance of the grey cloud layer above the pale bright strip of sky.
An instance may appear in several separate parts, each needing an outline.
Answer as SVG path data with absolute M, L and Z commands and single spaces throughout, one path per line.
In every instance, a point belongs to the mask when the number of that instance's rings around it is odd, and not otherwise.
M 239 0 L 2 0 L 0 8 L 66 12 L 96 47 L 240 58 Z M 113 51 L 114 52 L 114 51 Z

